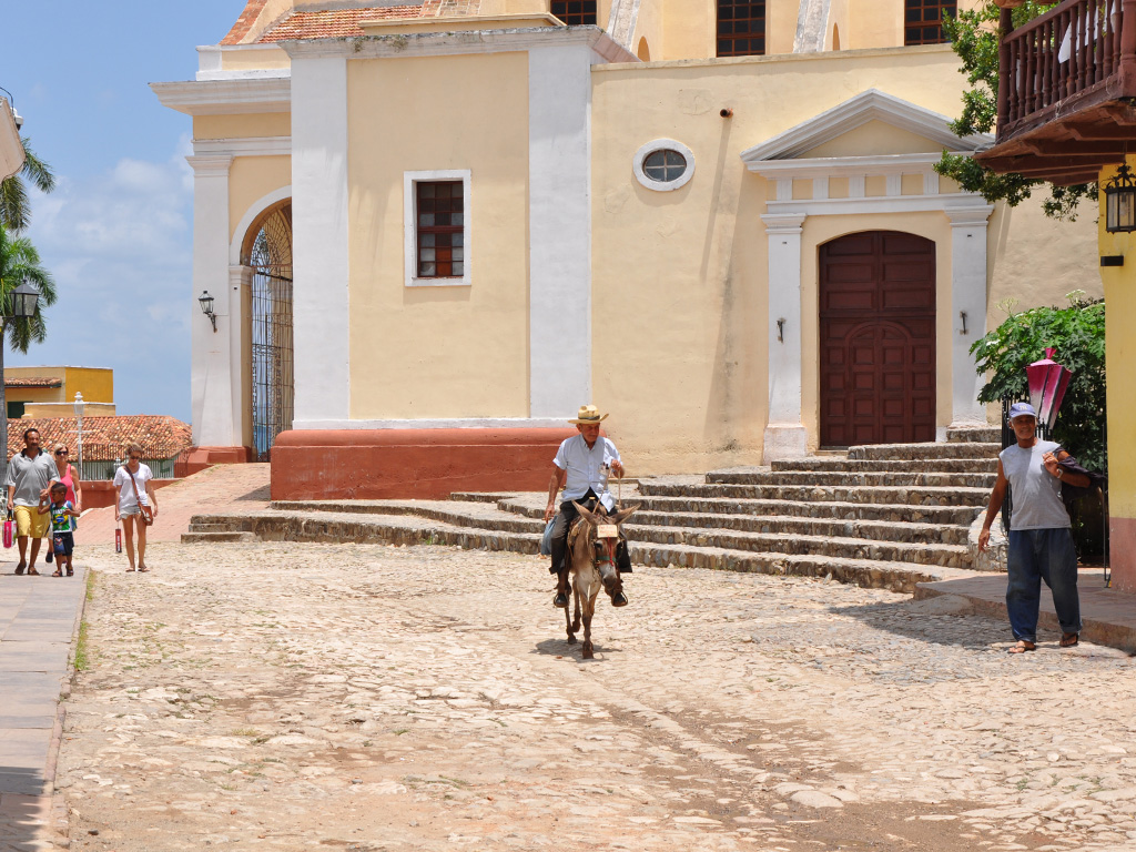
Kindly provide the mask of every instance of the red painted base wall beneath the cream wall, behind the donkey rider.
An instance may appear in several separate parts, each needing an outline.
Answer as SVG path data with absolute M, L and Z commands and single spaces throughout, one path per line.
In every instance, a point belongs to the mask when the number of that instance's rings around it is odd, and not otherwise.
M 272 452 L 273 500 L 441 500 L 544 491 L 563 429 L 303 429 Z

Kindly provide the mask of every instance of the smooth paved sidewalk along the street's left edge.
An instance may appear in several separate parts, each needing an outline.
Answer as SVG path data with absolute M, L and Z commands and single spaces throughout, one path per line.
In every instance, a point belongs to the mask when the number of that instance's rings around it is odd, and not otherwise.
M 15 552 L 15 551 L 12 551 Z M 41 568 L 44 566 L 41 566 Z M 45 566 L 50 570 L 50 566 Z M 33 850 L 52 824 L 52 782 L 70 692 L 73 638 L 86 570 L 74 577 L 0 574 L 0 850 Z

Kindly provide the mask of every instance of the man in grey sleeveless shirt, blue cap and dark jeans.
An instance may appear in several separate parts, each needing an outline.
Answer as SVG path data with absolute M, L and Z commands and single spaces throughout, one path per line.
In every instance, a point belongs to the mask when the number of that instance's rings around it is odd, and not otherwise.
M 1010 426 L 1018 443 L 999 454 L 997 481 L 978 534 L 978 549 L 986 550 L 994 516 L 1013 488 L 1010 516 L 1009 582 L 1005 608 L 1018 644 L 1010 653 L 1037 648 L 1037 610 L 1042 580 L 1053 593 L 1053 608 L 1061 625 L 1061 646 L 1071 648 L 1080 637 L 1080 600 L 1077 596 L 1077 551 L 1072 544 L 1069 512 L 1061 501 L 1061 483 L 1087 487 L 1088 477 L 1070 474 L 1058 462 L 1069 453 L 1052 441 L 1037 438 L 1037 412 L 1028 402 L 1010 407 Z

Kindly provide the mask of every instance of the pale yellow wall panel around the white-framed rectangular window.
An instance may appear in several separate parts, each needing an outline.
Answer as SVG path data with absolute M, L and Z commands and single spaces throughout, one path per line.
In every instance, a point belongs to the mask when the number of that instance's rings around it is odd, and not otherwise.
M 348 64 L 352 418 L 528 416 L 527 76 L 526 53 Z M 423 169 L 473 173 L 473 286 L 403 284 Z

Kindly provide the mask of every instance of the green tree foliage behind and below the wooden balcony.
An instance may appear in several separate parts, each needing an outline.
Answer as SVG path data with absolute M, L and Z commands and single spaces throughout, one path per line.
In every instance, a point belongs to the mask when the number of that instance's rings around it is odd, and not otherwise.
M 1041 3 L 1027 0 L 1013 10 L 1013 25 L 1021 26 L 1058 3 Z M 946 18 L 943 30 L 951 40 L 951 47 L 962 60 L 970 89 L 962 95 L 962 114 L 951 124 L 951 131 L 959 136 L 975 133 L 991 133 L 997 120 L 997 53 L 999 14 L 993 0 L 986 0 L 975 9 L 959 12 L 957 18 Z M 1077 206 L 1081 199 L 1096 199 L 1096 184 L 1054 186 L 1045 181 L 1022 175 L 1000 175 L 983 168 L 970 157 L 943 152 L 943 159 L 935 164 L 935 170 L 954 179 L 968 192 L 982 193 L 987 201 L 1005 201 L 1017 207 L 1028 199 L 1039 186 L 1049 186 L 1050 197 L 1042 202 L 1046 216 L 1072 222 L 1077 218 Z

